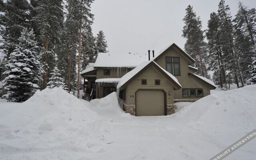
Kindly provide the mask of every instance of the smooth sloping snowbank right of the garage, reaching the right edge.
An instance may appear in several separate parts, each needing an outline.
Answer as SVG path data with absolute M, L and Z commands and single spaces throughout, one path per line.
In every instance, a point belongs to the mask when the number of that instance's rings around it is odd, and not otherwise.
M 178 114 L 189 121 L 227 127 L 255 127 L 256 85 L 206 96 Z

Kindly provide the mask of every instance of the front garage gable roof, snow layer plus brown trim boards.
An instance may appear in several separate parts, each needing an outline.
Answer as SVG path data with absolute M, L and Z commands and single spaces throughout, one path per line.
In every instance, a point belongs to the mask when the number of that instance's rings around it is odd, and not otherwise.
M 150 64 L 156 66 L 156 68 L 158 68 L 162 74 L 164 74 L 167 78 L 169 78 L 169 80 L 174 84 L 174 88 L 176 88 L 176 89 L 181 88 L 181 85 L 178 82 L 178 80 L 172 74 L 170 74 L 169 72 L 164 70 L 164 68 L 160 67 L 153 60 L 143 62 L 142 64 L 140 64 L 139 66 L 137 66 L 136 68 L 134 68 L 133 70 L 131 70 L 130 72 L 128 72 L 124 76 L 122 76 L 122 78 L 120 78 L 120 81 L 119 81 L 118 85 L 116 86 L 116 88 L 118 90 L 120 90 L 120 88 L 122 88 L 122 86 L 126 86 L 126 84 L 128 84 L 129 81 L 132 80 L 132 78 L 135 78 L 137 75 L 139 75 L 141 72 L 143 72 L 143 70 L 146 69 L 148 66 L 150 66 Z

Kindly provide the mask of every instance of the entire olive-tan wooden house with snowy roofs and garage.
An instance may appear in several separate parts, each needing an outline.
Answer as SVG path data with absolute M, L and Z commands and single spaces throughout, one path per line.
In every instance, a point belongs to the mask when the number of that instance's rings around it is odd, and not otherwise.
M 198 76 L 195 60 L 176 44 L 150 59 L 149 54 L 99 53 L 81 75 L 84 99 L 118 92 L 124 110 L 135 116 L 161 116 L 175 112 L 176 102 L 194 102 L 216 86 Z M 88 82 L 86 82 L 86 80 Z

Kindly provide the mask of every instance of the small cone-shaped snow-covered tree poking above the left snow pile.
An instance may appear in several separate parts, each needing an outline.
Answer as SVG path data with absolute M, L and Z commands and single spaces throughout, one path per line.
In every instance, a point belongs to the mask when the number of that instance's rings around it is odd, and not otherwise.
M 54 87 L 62 87 L 65 88 L 65 84 L 63 82 L 63 78 L 61 78 L 60 70 L 58 70 L 58 67 L 54 67 L 52 70 L 51 78 L 49 78 L 49 82 L 47 83 L 47 88 L 54 88 Z

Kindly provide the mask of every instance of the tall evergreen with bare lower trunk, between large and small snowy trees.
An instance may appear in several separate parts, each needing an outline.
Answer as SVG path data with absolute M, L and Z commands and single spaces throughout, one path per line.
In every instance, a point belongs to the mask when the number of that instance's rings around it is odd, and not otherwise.
M 32 1 L 34 5 L 33 26 L 40 43 L 40 59 L 44 68 L 43 88 L 46 88 L 49 70 L 54 67 L 55 48 L 60 42 L 63 28 L 63 0 Z

